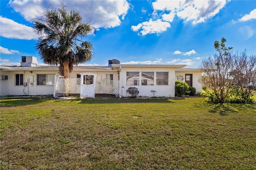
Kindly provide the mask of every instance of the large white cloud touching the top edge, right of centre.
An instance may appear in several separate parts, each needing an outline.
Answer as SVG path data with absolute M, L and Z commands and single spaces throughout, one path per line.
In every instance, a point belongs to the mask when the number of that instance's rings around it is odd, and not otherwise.
M 212 18 L 220 9 L 222 9 L 228 0 L 157 0 L 152 3 L 154 11 L 160 11 L 165 21 L 172 22 L 174 16 L 178 16 L 186 21 L 191 20 L 192 24 L 204 22 L 208 18 Z

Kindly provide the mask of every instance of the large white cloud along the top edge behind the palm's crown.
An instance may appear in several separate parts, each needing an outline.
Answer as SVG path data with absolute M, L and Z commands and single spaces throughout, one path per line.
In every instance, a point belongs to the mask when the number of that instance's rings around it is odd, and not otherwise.
M 28 21 L 41 16 L 48 8 L 60 8 L 59 0 L 13 0 L 9 4 Z M 84 22 L 95 28 L 119 26 L 130 8 L 126 0 L 67 0 L 64 4 L 69 10 L 80 12 Z

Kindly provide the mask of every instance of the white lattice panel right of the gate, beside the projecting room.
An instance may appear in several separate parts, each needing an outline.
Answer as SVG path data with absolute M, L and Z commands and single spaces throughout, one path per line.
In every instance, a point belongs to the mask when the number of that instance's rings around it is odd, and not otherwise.
M 96 80 L 95 93 L 119 95 L 118 80 Z

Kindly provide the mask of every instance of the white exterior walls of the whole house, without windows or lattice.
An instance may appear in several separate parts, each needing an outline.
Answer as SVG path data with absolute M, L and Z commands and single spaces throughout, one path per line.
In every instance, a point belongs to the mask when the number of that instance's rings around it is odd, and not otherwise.
M 122 66 L 122 65 L 121 65 Z M 59 75 L 57 70 L 36 70 L 33 68 L 32 73 L 31 70 L 19 71 L 19 70 L 2 70 L 1 75 L 8 75 L 8 80 L 0 81 L 0 93 L 2 95 L 52 95 L 54 93 L 54 85 L 37 85 L 37 74 L 54 74 Z M 119 73 L 118 73 L 119 71 Z M 129 86 L 126 85 L 126 72 L 127 71 L 137 71 L 137 72 L 168 72 L 168 85 L 141 85 L 141 77 L 140 77 L 140 85 Z M 136 87 L 139 90 L 140 96 L 152 97 L 152 90 L 156 91 L 156 97 L 174 97 L 175 95 L 175 80 L 177 79 L 177 75 L 183 75 L 185 78 L 185 74 L 193 74 L 193 87 L 196 88 L 197 93 L 202 91 L 202 85 L 198 83 L 198 79 L 201 77 L 200 71 L 191 71 L 191 70 L 175 70 L 175 67 L 172 66 L 160 66 L 156 65 L 154 67 L 149 65 L 140 66 L 123 66 L 120 69 L 120 66 L 117 65 L 113 67 L 113 69 L 106 70 L 74 70 L 70 73 L 70 78 L 76 78 L 77 74 L 80 73 L 94 73 L 96 74 L 96 79 L 106 79 L 106 74 L 113 74 L 114 80 L 120 79 L 120 95 L 127 97 L 128 93 L 126 90 L 129 87 Z M 30 79 L 28 85 L 26 87 L 15 86 L 15 74 L 23 74 L 24 82 L 26 79 Z

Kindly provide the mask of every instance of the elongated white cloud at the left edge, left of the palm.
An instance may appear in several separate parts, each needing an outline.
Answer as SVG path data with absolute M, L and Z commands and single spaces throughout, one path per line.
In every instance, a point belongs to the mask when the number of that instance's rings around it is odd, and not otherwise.
M 32 40 L 38 36 L 31 27 L 19 24 L 8 18 L 0 16 L 0 36 L 21 40 Z

